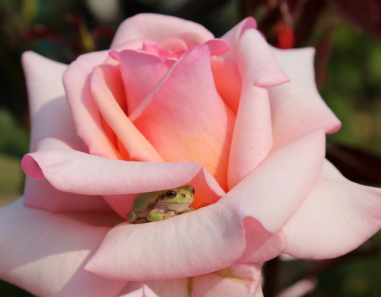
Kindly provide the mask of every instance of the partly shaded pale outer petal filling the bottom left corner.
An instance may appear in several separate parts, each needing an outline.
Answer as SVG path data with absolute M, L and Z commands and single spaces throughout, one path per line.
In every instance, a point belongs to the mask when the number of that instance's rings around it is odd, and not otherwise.
M 126 285 L 83 270 L 109 230 L 30 209 L 0 209 L 0 277 L 38 296 L 114 297 Z

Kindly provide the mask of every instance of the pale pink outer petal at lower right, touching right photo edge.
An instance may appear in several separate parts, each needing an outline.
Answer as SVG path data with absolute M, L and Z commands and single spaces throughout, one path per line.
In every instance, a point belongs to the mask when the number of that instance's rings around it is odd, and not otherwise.
M 316 185 L 283 227 L 297 258 L 335 258 L 358 247 L 381 228 L 381 189 L 347 180 L 328 161 Z

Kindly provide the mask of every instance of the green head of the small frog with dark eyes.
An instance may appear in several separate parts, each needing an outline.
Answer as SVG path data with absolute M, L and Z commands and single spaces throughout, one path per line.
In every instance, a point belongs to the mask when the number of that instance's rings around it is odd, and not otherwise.
M 160 203 L 169 210 L 182 212 L 193 202 L 193 194 L 194 188 L 191 185 L 170 189 L 163 194 Z

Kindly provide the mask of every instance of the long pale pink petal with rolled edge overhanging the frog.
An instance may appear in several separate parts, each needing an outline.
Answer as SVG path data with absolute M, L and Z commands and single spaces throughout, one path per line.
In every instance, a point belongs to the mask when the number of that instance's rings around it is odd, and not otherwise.
M 53 141 L 53 140 L 51 140 Z M 56 140 L 55 140 L 56 141 Z M 53 148 L 53 144 L 49 143 Z M 191 183 L 195 189 L 192 206 L 215 203 L 225 194 L 201 164 L 191 162 L 132 162 L 85 154 L 54 143 L 56 148 L 27 154 L 21 165 L 32 178 L 44 176 L 54 188 L 88 195 L 115 195 L 171 189 Z M 147 174 L 149 173 L 149 174 Z M 125 217 L 134 195 L 105 196 L 110 206 Z

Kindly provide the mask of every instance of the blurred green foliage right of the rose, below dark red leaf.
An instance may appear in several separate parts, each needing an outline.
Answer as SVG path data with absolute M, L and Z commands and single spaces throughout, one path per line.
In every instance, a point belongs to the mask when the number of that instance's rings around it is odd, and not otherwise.
M 343 23 L 334 37 L 321 93 L 343 126 L 327 139 L 381 156 L 381 42 Z

